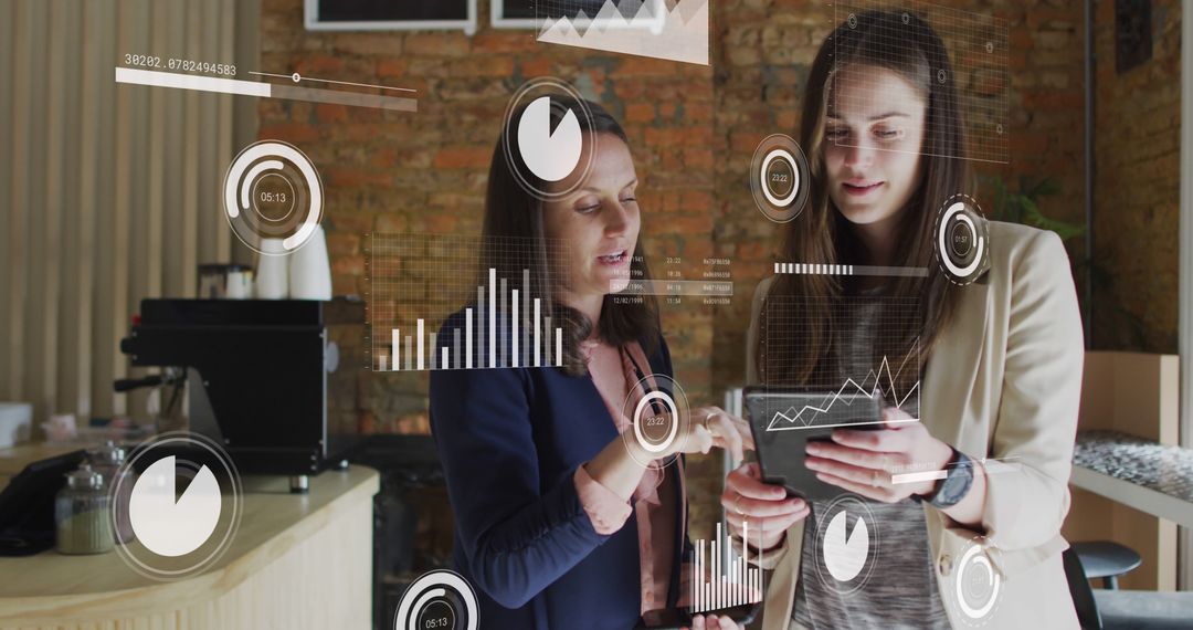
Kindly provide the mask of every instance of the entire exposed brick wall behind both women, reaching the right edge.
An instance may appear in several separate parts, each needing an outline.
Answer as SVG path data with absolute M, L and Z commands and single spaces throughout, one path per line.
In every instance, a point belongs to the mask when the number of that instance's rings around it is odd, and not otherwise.
M 1012 161 L 978 171 L 1008 181 L 1020 174 L 1055 179 L 1062 194 L 1045 202 L 1045 214 L 1080 222 L 1080 4 L 940 4 L 994 11 L 1010 25 Z M 1157 2 L 1156 61 L 1124 76 L 1113 75 L 1108 50 L 1113 2 L 1099 5 L 1099 56 L 1109 61 L 1099 74 L 1096 228 L 1100 252 L 1111 257 L 1117 273 L 1114 290 L 1100 301 L 1139 313 L 1150 327 L 1149 347 L 1168 347 L 1176 329 L 1179 4 Z M 716 0 L 712 6 L 713 64 L 705 68 L 538 44 L 528 31 L 489 29 L 487 0 L 480 2 L 482 24 L 474 37 L 307 32 L 302 0 L 262 0 L 261 69 L 419 89 L 418 113 L 260 104 L 261 137 L 297 144 L 322 172 L 335 291 L 365 292 L 364 233 L 477 233 L 489 158 L 509 95 L 528 78 L 557 76 L 624 123 L 642 177 L 645 245 L 656 271 L 662 257 L 682 257 L 692 272 L 706 255 L 734 261 L 729 305 L 662 307 L 680 384 L 693 404 L 719 403 L 721 391 L 743 379 L 749 296 L 777 246 L 774 224 L 753 206 L 746 169 L 764 136 L 798 135 L 808 68 L 834 25 L 832 8 L 811 0 Z M 1084 255 L 1080 242 L 1070 251 L 1075 259 Z M 1145 307 L 1156 302 L 1161 308 Z M 354 399 L 345 410 L 363 409 L 366 431 L 427 430 L 425 375 L 361 372 L 347 377 L 339 391 Z M 707 536 L 716 518 L 718 465 L 698 457 L 691 468 L 694 533 Z

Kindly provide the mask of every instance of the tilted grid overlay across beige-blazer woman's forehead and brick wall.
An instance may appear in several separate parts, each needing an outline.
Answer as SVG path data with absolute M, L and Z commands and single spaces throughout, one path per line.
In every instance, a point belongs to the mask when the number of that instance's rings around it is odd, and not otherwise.
M 952 81 L 957 91 L 958 105 L 965 119 L 965 158 L 978 162 L 1007 163 L 1009 156 L 1008 121 L 1008 24 L 989 13 L 975 13 L 959 8 L 942 7 L 917 0 L 843 0 L 833 2 L 834 27 L 839 24 L 858 24 L 858 17 L 867 11 L 892 11 L 898 14 L 917 16 L 940 36 L 948 51 L 952 76 L 940 70 L 933 80 Z M 896 24 L 891 29 L 880 27 L 871 33 L 897 45 L 911 45 L 915 35 L 911 26 L 903 29 Z M 873 61 L 882 66 L 883 60 Z M 928 60 L 929 63 L 935 63 Z M 849 68 L 839 68 L 847 75 Z M 833 97 L 837 98 L 836 95 Z M 884 99 L 885 100 L 885 99 Z M 854 104 L 859 106 L 869 103 Z M 866 107 L 869 109 L 869 107 Z M 837 140 L 839 146 L 853 146 Z M 884 149 L 896 150 L 896 149 Z M 937 155 L 926 152 L 925 155 Z M 959 158 L 958 155 L 942 155 Z

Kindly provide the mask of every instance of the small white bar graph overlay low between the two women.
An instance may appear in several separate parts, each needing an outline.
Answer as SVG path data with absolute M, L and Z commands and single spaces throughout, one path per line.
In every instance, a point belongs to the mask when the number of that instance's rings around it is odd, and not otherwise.
M 755 566 L 750 567 L 749 520 L 743 521 L 742 530 L 746 556 L 737 555 L 728 532 L 722 535 L 721 523 L 713 541 L 696 541 L 690 593 L 693 614 L 762 600 L 762 569 L 758 568 L 758 558 L 753 558 Z

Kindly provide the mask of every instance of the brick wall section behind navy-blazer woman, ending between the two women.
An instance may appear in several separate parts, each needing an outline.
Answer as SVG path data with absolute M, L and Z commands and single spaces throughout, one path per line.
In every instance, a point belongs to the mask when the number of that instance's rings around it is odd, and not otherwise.
M 261 0 L 265 72 L 298 72 L 419 91 L 418 113 L 262 100 L 260 136 L 291 142 L 320 168 L 336 294 L 365 292 L 361 235 L 477 234 L 489 159 L 513 92 L 550 75 L 600 101 L 625 126 L 641 179 L 644 246 L 655 266 L 681 257 L 697 272 L 712 253 L 712 70 L 539 44 L 532 31 L 321 33 L 302 0 Z M 662 307 L 676 381 L 692 404 L 711 389 L 712 307 Z M 350 377 L 351 378 L 351 377 Z M 426 375 L 361 371 L 336 390 L 370 432 L 426 432 Z M 707 536 L 718 464 L 694 458 L 692 523 Z

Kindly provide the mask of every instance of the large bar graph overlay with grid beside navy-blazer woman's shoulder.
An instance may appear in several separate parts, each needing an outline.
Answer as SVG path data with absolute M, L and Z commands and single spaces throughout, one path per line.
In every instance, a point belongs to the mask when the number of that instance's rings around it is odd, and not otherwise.
M 563 365 L 571 327 L 550 288 L 567 243 L 512 237 L 370 234 L 370 366 L 381 372 Z

